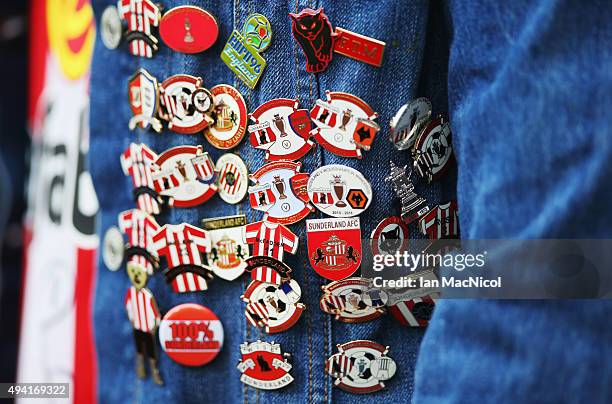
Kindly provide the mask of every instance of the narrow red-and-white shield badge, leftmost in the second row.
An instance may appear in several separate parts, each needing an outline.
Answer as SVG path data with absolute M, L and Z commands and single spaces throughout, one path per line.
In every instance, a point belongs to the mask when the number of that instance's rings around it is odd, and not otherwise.
M 157 79 L 145 69 L 138 69 L 128 80 L 128 100 L 133 115 L 129 122 L 130 130 L 138 126 L 142 129 L 151 127 L 156 132 L 161 132 L 162 124 L 157 119 L 159 108 Z

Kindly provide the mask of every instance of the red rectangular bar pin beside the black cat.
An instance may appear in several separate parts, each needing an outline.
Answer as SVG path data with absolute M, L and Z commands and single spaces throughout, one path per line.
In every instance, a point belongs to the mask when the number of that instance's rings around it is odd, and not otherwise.
M 383 41 L 338 27 L 336 33 L 339 36 L 334 44 L 334 52 L 376 67 L 381 66 L 386 45 Z

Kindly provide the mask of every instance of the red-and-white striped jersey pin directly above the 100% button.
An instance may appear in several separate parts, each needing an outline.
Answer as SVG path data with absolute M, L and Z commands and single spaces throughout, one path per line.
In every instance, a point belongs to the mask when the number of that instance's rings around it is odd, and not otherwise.
M 211 251 L 206 231 L 187 223 L 166 224 L 153 235 L 153 245 L 155 252 L 166 258 L 164 276 L 175 293 L 208 289 L 212 275 L 202 260 L 202 254 Z

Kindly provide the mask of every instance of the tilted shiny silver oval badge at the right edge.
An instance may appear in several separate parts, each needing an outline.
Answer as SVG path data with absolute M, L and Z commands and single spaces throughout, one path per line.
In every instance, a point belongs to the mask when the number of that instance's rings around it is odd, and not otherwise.
M 431 118 L 431 102 L 417 98 L 403 105 L 391 119 L 389 140 L 396 149 L 410 148 Z

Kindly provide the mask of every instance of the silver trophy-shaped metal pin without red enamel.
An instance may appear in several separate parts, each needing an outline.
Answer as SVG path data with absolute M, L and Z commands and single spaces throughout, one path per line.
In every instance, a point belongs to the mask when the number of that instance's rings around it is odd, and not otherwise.
M 407 168 L 400 168 L 393 161 L 390 162 L 390 165 L 391 173 L 385 178 L 385 181 L 391 183 L 393 191 L 400 199 L 402 204 L 401 218 L 408 224 L 429 212 L 429 206 L 425 198 L 414 192 L 414 184 L 410 181 L 410 174 L 406 173 Z

